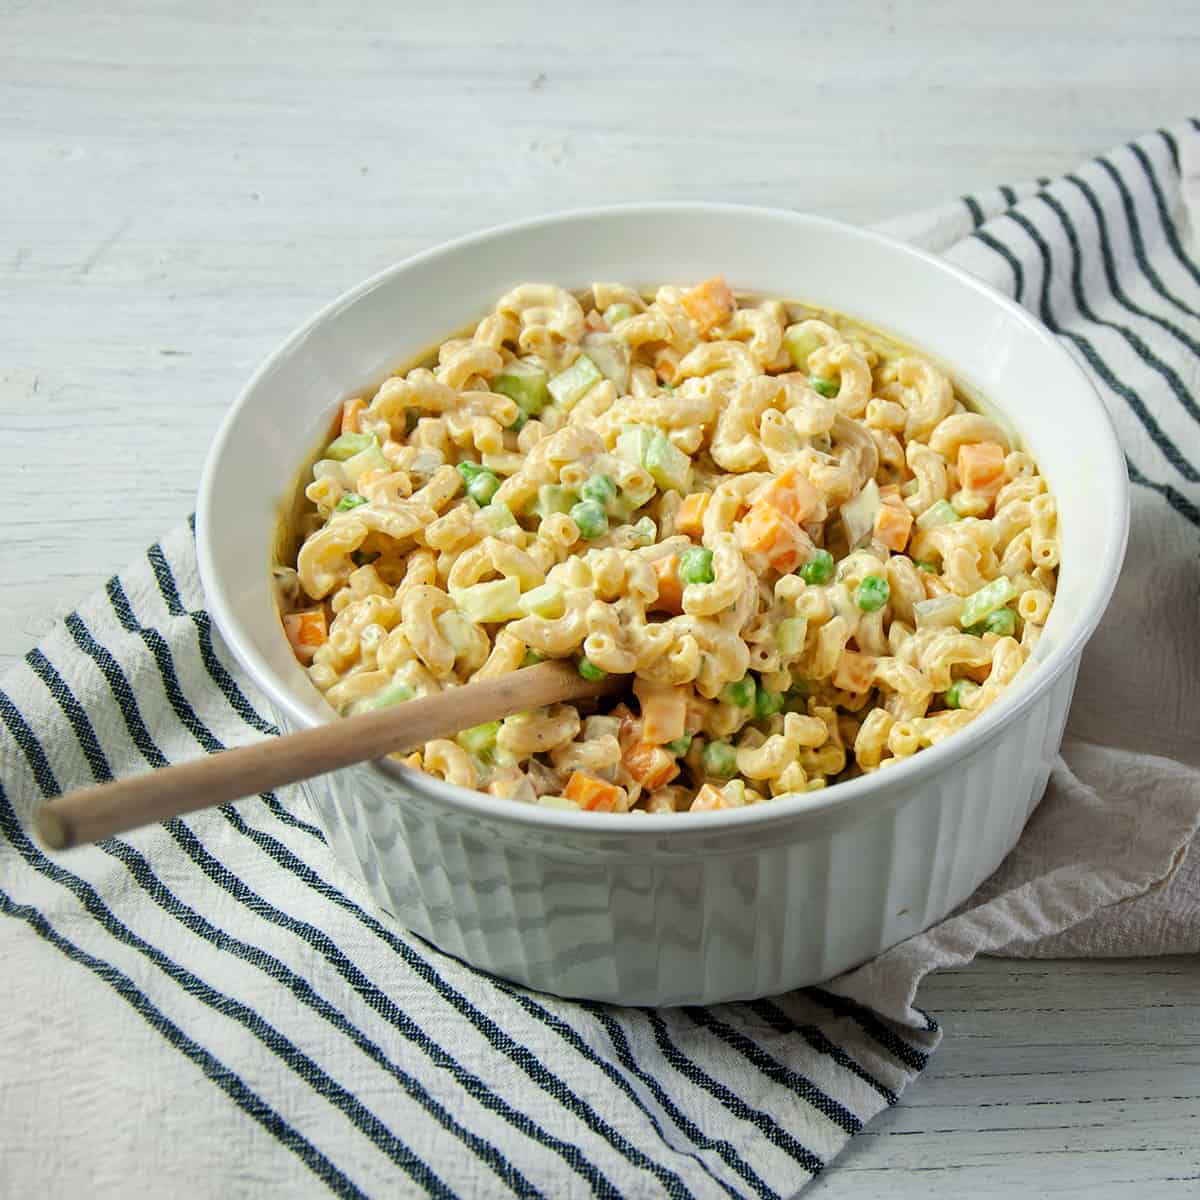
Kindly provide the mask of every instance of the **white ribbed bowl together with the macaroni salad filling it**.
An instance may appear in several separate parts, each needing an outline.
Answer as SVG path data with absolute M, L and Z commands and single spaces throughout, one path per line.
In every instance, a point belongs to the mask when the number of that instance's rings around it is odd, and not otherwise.
M 295 803 L 446 952 L 640 1004 L 826 979 L 961 902 L 1042 796 L 1127 527 L 1104 407 L 1024 311 L 722 205 L 367 281 L 254 376 L 197 505 L 284 728 L 542 659 L 628 678 Z

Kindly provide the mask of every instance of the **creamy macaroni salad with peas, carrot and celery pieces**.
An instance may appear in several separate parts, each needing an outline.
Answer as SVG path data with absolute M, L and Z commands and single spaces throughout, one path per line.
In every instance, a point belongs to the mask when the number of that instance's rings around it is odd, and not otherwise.
M 935 365 L 836 314 L 526 283 L 346 401 L 283 625 L 343 714 L 548 658 L 631 695 L 403 761 L 600 811 L 756 804 L 991 704 L 1054 602 L 1033 460 Z

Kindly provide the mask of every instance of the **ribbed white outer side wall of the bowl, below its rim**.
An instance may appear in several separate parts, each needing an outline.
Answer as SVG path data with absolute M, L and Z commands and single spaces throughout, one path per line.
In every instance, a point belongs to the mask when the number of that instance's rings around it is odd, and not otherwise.
M 480 818 L 368 764 L 305 793 L 379 904 L 475 967 L 624 1004 L 744 1000 L 829 979 L 971 895 L 1042 798 L 1078 665 L 940 772 L 709 838 L 686 815 L 678 838 Z

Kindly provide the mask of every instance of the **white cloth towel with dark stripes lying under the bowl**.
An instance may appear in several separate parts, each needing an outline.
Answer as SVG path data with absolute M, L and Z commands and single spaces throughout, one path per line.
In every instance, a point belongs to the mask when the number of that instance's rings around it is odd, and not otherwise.
M 1200 654 L 1198 162 L 1193 124 L 896 227 L 1063 338 L 1138 485 L 1063 761 L 958 914 L 827 988 L 622 1009 L 407 934 L 296 796 L 44 854 L 41 798 L 275 732 L 181 527 L 0 692 L 0 1193 L 788 1196 L 925 1067 L 941 1034 L 912 1001 L 929 970 L 1200 949 L 1184 724 L 1200 683 L 1183 670 Z

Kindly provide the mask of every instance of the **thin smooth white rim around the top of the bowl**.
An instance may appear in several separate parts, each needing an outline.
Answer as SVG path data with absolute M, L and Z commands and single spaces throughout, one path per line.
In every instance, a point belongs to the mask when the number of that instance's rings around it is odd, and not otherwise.
M 922 775 L 938 774 L 959 758 L 965 757 L 992 740 L 992 738 L 1000 736 L 1006 726 L 1010 725 L 1021 713 L 1028 709 L 1055 683 L 1062 672 L 1079 659 L 1084 646 L 1096 631 L 1116 588 L 1129 535 L 1130 498 L 1128 469 L 1124 455 L 1120 448 L 1112 418 L 1100 398 L 1094 383 L 1079 362 L 1068 353 L 1066 347 L 1032 313 L 1022 308 L 1009 296 L 962 268 L 898 238 L 875 229 L 864 229 L 848 222 L 836 221 L 832 217 L 815 216 L 791 209 L 779 209 L 769 205 L 709 203 L 703 200 L 631 202 L 626 204 L 564 209 L 491 226 L 439 242 L 427 250 L 410 254 L 397 263 L 392 263 L 390 266 L 354 284 L 319 308 L 307 320 L 302 322 L 276 347 L 259 364 L 242 386 L 236 400 L 226 412 L 205 457 L 197 497 L 196 547 L 199 576 L 209 610 L 221 636 L 229 646 L 239 664 L 246 670 L 257 686 L 266 694 L 268 700 L 277 710 L 282 710 L 300 728 L 308 728 L 323 724 L 325 720 L 334 721 L 341 719 L 331 709 L 328 718 L 317 720 L 292 697 L 289 689 L 276 678 L 268 662 L 254 648 L 253 641 L 242 628 L 236 610 L 230 602 L 230 598 L 216 569 L 210 533 L 220 463 L 241 410 L 252 402 L 262 380 L 275 370 L 281 360 L 286 359 L 294 349 L 301 346 L 316 328 L 337 316 L 342 310 L 352 306 L 361 296 L 374 290 L 380 284 L 389 282 L 395 276 L 402 275 L 419 264 L 434 262 L 440 257 L 461 253 L 482 242 L 502 240 L 529 229 L 598 218 L 637 220 L 642 216 L 661 216 L 668 212 L 734 218 L 757 217 L 816 227 L 818 229 L 826 228 L 830 232 L 836 230 L 839 235 L 857 238 L 866 244 L 886 247 L 889 252 L 899 251 L 901 254 L 908 256 L 911 259 L 930 266 L 935 271 L 953 277 L 960 284 L 973 289 L 991 304 L 1004 310 L 1009 317 L 1024 325 L 1031 335 L 1042 342 L 1046 350 L 1068 366 L 1069 373 L 1078 379 L 1081 389 L 1086 391 L 1088 403 L 1094 409 L 1094 419 L 1103 428 L 1103 434 L 1111 454 L 1111 463 L 1098 464 L 1106 469 L 1108 481 L 1116 485 L 1105 491 L 1105 494 L 1110 497 L 1110 528 L 1114 530 L 1114 534 L 1108 540 L 1103 558 L 1094 565 L 1094 578 L 1098 582 L 1093 586 L 1084 613 L 1068 628 L 1062 643 L 1052 650 L 1046 661 L 1038 664 L 1036 672 L 1025 676 L 1020 685 L 1012 694 L 1002 696 L 988 712 L 983 713 L 968 726 L 956 731 L 953 737 L 940 742 L 937 745 L 929 746 L 919 754 L 898 762 L 887 772 L 872 772 L 869 775 L 860 775 L 857 779 L 846 780 L 816 792 L 775 797 L 767 804 L 755 804 L 739 809 L 722 809 L 710 812 L 583 812 L 534 804 L 498 802 L 494 797 L 486 793 L 468 791 L 467 788 L 432 776 L 420 775 L 390 760 L 376 760 L 362 764 L 386 776 L 398 790 L 432 798 L 469 818 L 497 824 L 524 826 L 547 833 L 570 834 L 575 838 L 601 838 L 605 835 L 661 838 L 670 833 L 672 839 L 685 840 L 696 836 L 706 838 L 714 833 L 733 829 L 761 828 L 780 822 L 792 823 L 803 821 L 806 817 L 815 818 L 828 815 L 838 809 L 854 810 L 847 814 L 852 818 L 863 817 L 866 815 L 864 812 L 865 802 L 872 794 L 884 796 L 892 792 L 893 788 L 901 790 L 911 786 Z M 850 316 L 853 317 L 854 314 L 850 313 Z M 1108 470 L 1108 468 L 1114 467 L 1116 469 Z M 414 775 L 418 778 L 414 779 Z

